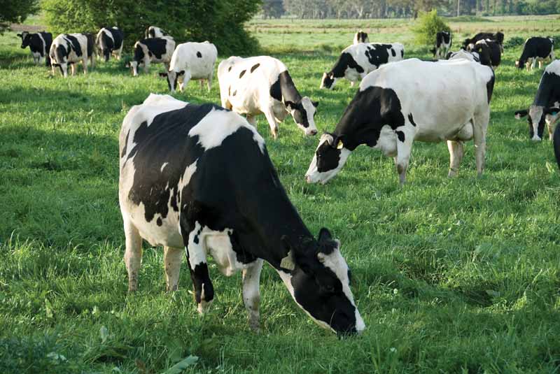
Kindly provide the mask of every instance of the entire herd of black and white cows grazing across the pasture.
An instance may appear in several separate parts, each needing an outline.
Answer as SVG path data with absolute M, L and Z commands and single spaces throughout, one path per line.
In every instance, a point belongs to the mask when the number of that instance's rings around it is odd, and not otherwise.
M 45 59 L 66 76 L 96 56 L 120 59 L 123 32 L 106 27 L 92 34 L 23 32 L 36 64 Z M 321 88 L 332 89 L 346 78 L 358 92 L 332 133 L 318 141 L 307 182 L 328 182 L 342 169 L 359 145 L 393 157 L 400 183 L 405 182 L 414 141 L 447 141 L 449 176 L 458 173 L 463 143 L 474 140 L 477 173 L 484 170 L 486 131 L 500 65 L 504 35 L 479 33 L 451 52 L 451 33 L 437 33 L 432 61 L 405 59 L 400 43 L 370 43 L 358 31 L 330 71 Z M 169 90 L 183 91 L 189 80 L 211 88 L 216 47 L 209 43 L 176 45 L 172 36 L 149 27 L 146 38 L 134 44 L 127 66 L 162 63 Z M 442 59 L 445 58 L 445 59 Z M 547 124 L 560 166 L 560 62 L 554 61 L 554 41 L 528 38 L 516 66 L 547 66 L 533 104 L 518 110 L 527 116 L 531 139 L 540 141 Z M 249 324 L 259 326 L 259 282 L 263 261 L 279 273 L 291 296 L 321 326 L 337 333 L 365 329 L 350 289 L 351 272 L 340 243 L 328 229 L 315 238 L 288 199 L 255 128 L 264 114 L 274 138 L 278 122 L 291 115 L 307 136 L 317 134 L 318 103 L 302 96 L 286 65 L 278 59 L 230 57 L 218 65 L 221 107 L 195 105 L 169 95 L 150 94 L 127 113 L 120 131 L 119 201 L 125 227 L 125 264 L 129 290 L 138 287 L 142 240 L 164 247 L 167 289 L 179 282 L 181 253 L 186 250 L 195 301 L 202 313 L 214 299 L 207 254 L 225 275 L 241 270 L 243 299 Z M 460 88 L 458 88 L 460 87 Z M 245 117 L 241 117 L 245 115 Z

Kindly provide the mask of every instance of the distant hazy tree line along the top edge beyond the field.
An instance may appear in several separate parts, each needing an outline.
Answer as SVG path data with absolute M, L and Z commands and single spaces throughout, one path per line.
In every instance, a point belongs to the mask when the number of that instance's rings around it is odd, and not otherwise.
M 298 18 L 416 17 L 440 15 L 533 15 L 560 13 L 560 0 L 262 0 L 262 16 Z

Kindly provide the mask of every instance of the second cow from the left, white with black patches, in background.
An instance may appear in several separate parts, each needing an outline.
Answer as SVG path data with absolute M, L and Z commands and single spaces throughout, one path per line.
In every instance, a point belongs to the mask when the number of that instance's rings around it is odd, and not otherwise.
M 87 59 L 95 66 L 95 48 L 92 34 L 60 34 L 52 41 L 49 51 L 52 74 L 58 66 L 64 78 L 68 76 L 68 65 L 72 75 L 76 74 L 76 64 L 82 62 L 83 73 L 87 73 Z

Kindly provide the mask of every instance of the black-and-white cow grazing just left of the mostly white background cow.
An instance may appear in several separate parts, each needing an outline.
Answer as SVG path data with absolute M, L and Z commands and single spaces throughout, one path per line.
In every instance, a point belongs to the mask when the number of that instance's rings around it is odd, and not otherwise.
M 165 71 L 169 71 L 169 62 L 175 50 L 175 41 L 170 36 L 162 38 L 147 38 L 134 44 L 134 57 L 127 63 L 133 76 L 138 75 L 140 65 L 144 66 L 144 73 L 150 70 L 150 64 L 163 63 Z

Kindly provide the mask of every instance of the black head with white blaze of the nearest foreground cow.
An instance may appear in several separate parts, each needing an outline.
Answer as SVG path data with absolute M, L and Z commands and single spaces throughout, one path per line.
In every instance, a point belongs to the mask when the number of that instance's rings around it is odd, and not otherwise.
M 282 269 L 279 274 L 301 308 L 319 326 L 339 335 L 363 331 L 365 324 L 353 300 L 350 269 L 340 254 L 340 242 L 324 228 L 302 254 L 286 236 L 282 240 L 288 255 L 281 267 L 287 266 L 290 272 Z

